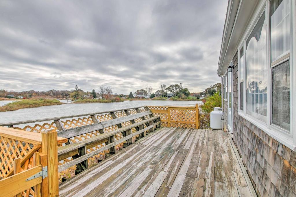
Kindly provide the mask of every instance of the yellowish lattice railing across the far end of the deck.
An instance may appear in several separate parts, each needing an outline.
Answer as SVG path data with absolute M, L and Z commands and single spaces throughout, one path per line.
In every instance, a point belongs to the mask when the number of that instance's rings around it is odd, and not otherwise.
M 161 126 L 200 128 L 198 104 L 193 107 L 148 106 L 154 115 L 159 115 Z

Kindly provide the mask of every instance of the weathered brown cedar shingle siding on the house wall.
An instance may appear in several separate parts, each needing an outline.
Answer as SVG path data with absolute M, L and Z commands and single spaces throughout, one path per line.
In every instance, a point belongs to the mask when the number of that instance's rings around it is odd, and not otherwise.
M 233 62 L 233 140 L 253 186 L 261 196 L 296 196 L 296 153 L 238 115 L 238 53 Z M 227 101 L 224 114 L 227 124 Z

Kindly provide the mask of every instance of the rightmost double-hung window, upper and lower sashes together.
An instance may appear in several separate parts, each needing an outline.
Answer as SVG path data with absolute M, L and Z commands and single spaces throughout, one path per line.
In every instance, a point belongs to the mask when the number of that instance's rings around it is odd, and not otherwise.
M 272 90 L 271 124 L 289 133 L 291 121 L 290 1 L 271 0 L 269 6 Z

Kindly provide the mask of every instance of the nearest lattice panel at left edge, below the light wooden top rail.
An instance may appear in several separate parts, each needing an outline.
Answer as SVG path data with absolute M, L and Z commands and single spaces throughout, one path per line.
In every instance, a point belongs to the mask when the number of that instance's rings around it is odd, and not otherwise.
M 13 160 L 23 158 L 31 151 L 34 144 L 0 136 L 0 177 L 13 170 Z

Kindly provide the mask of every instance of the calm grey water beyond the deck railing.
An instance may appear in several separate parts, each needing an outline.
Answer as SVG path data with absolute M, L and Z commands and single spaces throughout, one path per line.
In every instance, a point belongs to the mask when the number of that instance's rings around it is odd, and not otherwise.
M 60 100 L 66 102 L 66 100 Z M 6 102 L 6 101 L 1 101 Z M 0 104 L 1 104 L 0 103 Z M 115 103 L 67 103 L 65 105 L 51 105 L 38 108 L 26 108 L 16 111 L 0 112 L 0 123 L 34 120 L 42 118 L 54 118 L 59 116 L 76 115 L 84 113 L 96 113 L 103 111 L 135 108 L 144 105 L 151 106 L 194 106 L 201 101 L 125 101 Z

